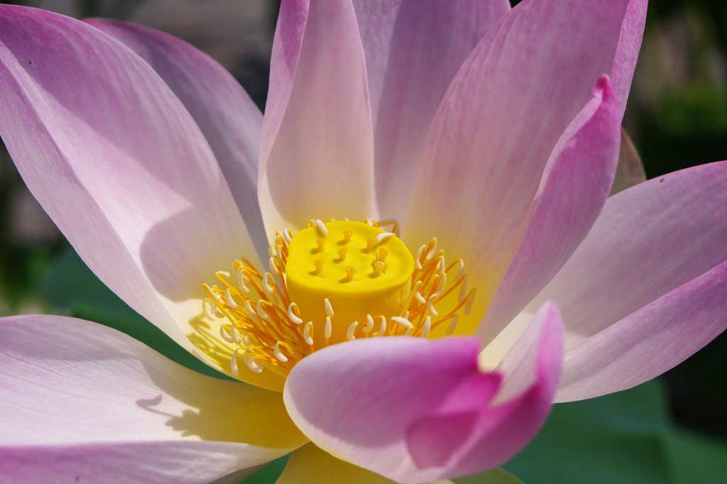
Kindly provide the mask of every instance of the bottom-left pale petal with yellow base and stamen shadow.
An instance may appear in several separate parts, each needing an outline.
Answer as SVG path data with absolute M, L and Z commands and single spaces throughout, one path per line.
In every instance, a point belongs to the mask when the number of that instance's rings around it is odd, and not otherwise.
M 279 393 L 59 316 L 0 320 L 0 400 L 4 483 L 208 483 L 305 443 Z

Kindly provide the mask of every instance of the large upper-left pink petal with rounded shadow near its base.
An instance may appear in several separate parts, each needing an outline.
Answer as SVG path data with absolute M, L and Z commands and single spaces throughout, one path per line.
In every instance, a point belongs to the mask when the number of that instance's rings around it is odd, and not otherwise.
M 191 349 L 201 283 L 257 260 L 212 150 L 118 41 L 44 10 L 0 14 L 0 134 L 25 183 L 107 286 Z

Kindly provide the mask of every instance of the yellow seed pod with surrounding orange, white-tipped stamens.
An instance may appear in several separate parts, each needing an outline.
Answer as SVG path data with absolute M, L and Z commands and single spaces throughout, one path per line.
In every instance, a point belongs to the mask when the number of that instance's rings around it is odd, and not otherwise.
M 356 338 L 452 334 L 475 299 L 464 262 L 446 265 L 434 238 L 412 257 L 388 225 L 392 232 L 370 219 L 311 220 L 295 235 L 276 234 L 269 273 L 236 260 L 237 287 L 225 271 L 217 272 L 222 287 L 204 284 L 206 317 L 226 320 L 230 373 L 286 376 L 310 353 Z

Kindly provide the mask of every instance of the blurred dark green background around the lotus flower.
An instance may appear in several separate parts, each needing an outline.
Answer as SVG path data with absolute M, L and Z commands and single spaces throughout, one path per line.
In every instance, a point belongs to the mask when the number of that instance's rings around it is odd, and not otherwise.
M 167 31 L 212 55 L 265 105 L 279 1 L 3 3 Z M 726 0 L 651 1 L 624 127 L 648 177 L 727 159 Z M 0 148 L 0 315 L 36 312 L 118 328 L 214 374 L 95 278 Z M 284 461 L 246 482 L 273 483 Z M 505 468 L 528 484 L 727 483 L 727 334 L 652 382 L 555 406 L 538 437 Z

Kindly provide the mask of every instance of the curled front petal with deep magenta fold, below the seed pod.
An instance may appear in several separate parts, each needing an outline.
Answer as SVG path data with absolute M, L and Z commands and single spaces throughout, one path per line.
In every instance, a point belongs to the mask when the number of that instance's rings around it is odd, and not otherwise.
M 533 437 L 558 385 L 561 347 L 552 304 L 502 373 L 479 370 L 473 338 L 356 340 L 298 363 L 284 400 L 334 456 L 398 482 L 457 477 L 502 464 Z

